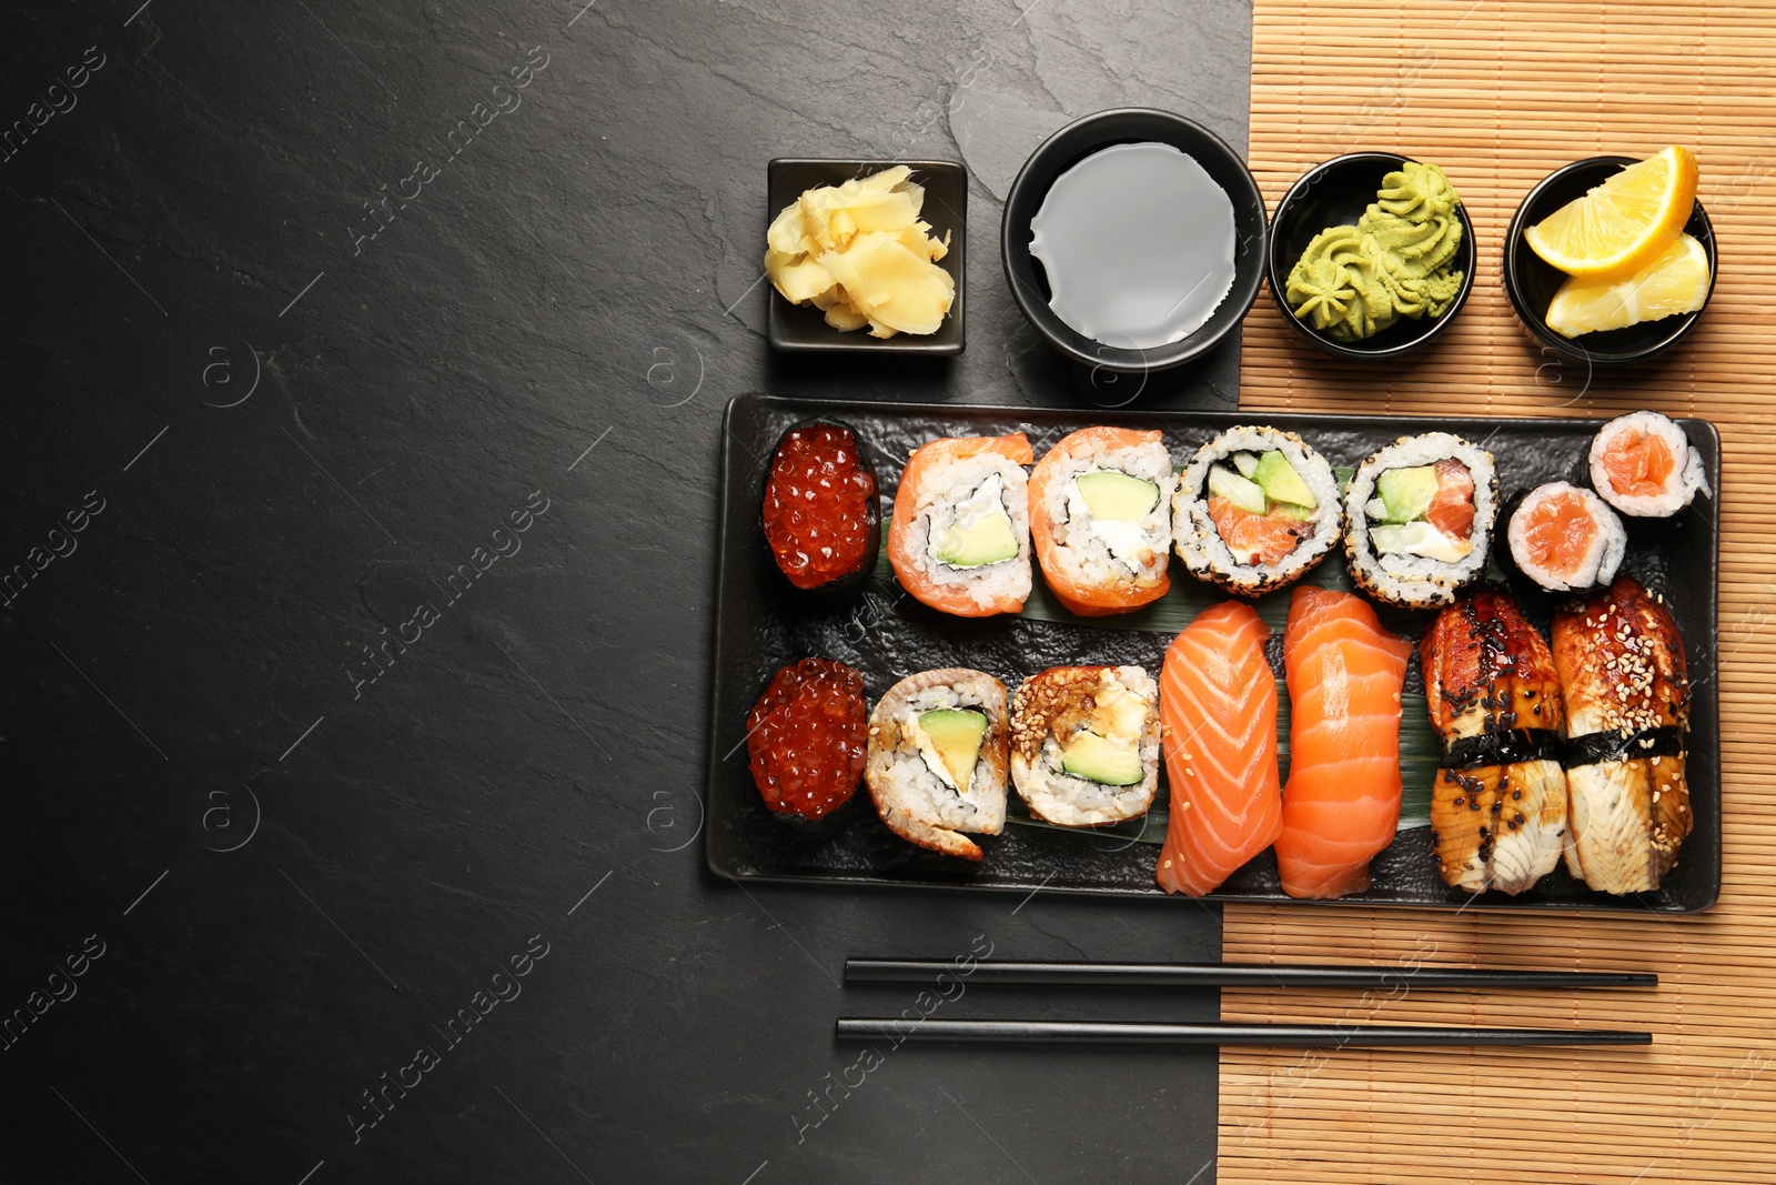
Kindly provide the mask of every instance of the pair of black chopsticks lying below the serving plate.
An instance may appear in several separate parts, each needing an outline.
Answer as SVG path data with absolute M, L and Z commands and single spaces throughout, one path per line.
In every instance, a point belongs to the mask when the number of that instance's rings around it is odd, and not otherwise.
M 948 972 L 936 959 L 845 959 L 845 982 L 920 982 Z M 975 963 L 970 984 L 1101 988 L 1653 988 L 1648 972 L 1526 972 L 1478 966 L 1311 966 L 1238 963 Z M 1620 1029 L 1447 1029 L 1419 1025 L 1130 1023 L 1080 1020 L 874 1020 L 840 1016 L 838 1038 L 863 1041 L 998 1041 L 1073 1045 L 1257 1045 L 1309 1048 L 1472 1045 L 1652 1045 Z

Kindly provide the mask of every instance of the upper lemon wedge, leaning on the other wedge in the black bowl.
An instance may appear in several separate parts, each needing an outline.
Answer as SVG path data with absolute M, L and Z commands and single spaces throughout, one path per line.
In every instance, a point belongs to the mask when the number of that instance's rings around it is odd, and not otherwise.
M 1696 156 L 1678 144 L 1629 165 L 1524 231 L 1568 275 L 1629 275 L 1671 245 L 1696 204 Z

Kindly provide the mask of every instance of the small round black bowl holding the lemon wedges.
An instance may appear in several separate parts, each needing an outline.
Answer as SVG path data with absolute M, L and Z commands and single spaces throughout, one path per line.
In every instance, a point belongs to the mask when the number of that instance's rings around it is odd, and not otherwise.
M 1623 165 L 1632 163 L 1637 163 L 1634 156 L 1590 156 L 1575 160 L 1565 169 L 1556 169 L 1543 178 L 1542 185 L 1529 190 L 1529 197 L 1517 208 L 1511 227 L 1504 235 L 1504 295 L 1510 297 L 1517 320 L 1524 323 L 1529 339 L 1538 346 L 1588 366 L 1625 366 L 1653 359 L 1687 338 L 1709 309 L 1705 297 L 1694 313 L 1641 322 L 1627 329 L 1581 334 L 1579 338 L 1558 334 L 1543 320 L 1554 293 L 1566 282 L 1566 274 L 1531 251 L 1524 231 L 1586 190 L 1602 185 Z M 1712 297 L 1719 261 L 1714 249 L 1714 224 L 1709 222 L 1709 211 L 1701 208 L 1700 201 L 1691 208 L 1684 233 L 1698 240 L 1701 249 L 1709 252 L 1709 297 Z

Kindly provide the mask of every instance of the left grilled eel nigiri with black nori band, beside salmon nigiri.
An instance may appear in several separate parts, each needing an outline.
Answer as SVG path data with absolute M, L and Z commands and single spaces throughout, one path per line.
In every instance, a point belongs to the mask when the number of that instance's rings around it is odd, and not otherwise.
M 1566 830 L 1565 711 L 1554 656 L 1495 588 L 1437 615 L 1419 643 L 1431 727 L 1431 849 L 1444 883 L 1520 894 L 1559 863 Z

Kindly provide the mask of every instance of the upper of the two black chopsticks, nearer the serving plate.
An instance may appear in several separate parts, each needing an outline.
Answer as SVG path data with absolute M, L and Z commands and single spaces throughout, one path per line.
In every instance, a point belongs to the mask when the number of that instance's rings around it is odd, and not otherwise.
M 1007 963 L 959 972 L 940 959 L 845 959 L 845 982 L 920 982 L 948 972 L 970 984 L 1140 988 L 1653 988 L 1652 972 L 1526 972 L 1483 966 L 1314 966 L 1241 963 Z

